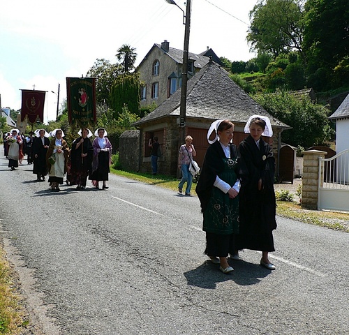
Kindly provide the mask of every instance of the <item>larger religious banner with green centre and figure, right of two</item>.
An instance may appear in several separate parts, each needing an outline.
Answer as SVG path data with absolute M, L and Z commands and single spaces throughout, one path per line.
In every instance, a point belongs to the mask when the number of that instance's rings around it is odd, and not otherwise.
M 96 78 L 66 78 L 69 124 L 96 124 Z

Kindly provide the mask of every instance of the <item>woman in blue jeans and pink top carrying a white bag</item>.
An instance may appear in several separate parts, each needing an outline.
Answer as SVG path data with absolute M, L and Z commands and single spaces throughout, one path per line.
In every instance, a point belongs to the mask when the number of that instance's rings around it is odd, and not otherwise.
M 193 161 L 193 157 L 196 156 L 196 151 L 193 144 L 191 144 L 193 142 L 191 135 L 187 135 L 184 140 L 186 143 L 181 145 L 178 155 L 178 168 L 181 170 L 181 181 L 179 181 L 178 192 L 182 193 L 184 183 L 186 182 L 186 195 L 191 195 L 193 176 L 189 171 L 189 166 L 191 165 L 191 161 Z

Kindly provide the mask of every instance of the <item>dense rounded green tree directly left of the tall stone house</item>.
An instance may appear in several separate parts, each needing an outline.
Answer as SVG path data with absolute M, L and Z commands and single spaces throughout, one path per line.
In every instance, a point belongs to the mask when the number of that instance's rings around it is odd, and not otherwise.
M 116 118 L 125 104 L 131 113 L 140 115 L 140 79 L 138 73 L 124 73 L 117 78 L 112 86 L 110 103 L 116 112 Z

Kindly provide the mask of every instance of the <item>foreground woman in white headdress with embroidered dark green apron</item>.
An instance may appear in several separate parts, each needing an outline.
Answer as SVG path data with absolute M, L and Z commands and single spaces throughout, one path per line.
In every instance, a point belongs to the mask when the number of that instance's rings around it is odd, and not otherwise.
M 216 137 L 209 140 L 213 131 L 216 131 Z M 195 189 L 204 216 L 205 254 L 212 262 L 221 265 L 219 269 L 224 274 L 234 270 L 227 257 L 234 254 L 234 235 L 239 232 L 240 185 L 233 133 L 234 124 L 229 120 L 217 120 L 211 124 L 207 133 L 211 145 L 206 151 Z

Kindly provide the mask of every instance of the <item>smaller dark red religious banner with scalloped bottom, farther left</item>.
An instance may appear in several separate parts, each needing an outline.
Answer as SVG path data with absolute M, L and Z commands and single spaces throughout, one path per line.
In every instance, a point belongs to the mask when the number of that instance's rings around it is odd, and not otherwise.
M 27 118 L 30 124 L 35 124 L 39 119 L 43 123 L 45 94 L 45 91 L 22 89 L 21 121 Z

